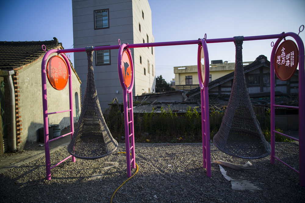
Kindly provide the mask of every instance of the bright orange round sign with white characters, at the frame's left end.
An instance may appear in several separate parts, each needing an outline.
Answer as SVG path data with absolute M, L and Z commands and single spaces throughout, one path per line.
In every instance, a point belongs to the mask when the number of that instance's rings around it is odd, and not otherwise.
M 47 63 L 47 77 L 54 89 L 62 90 L 68 83 L 68 67 L 60 56 L 52 56 Z

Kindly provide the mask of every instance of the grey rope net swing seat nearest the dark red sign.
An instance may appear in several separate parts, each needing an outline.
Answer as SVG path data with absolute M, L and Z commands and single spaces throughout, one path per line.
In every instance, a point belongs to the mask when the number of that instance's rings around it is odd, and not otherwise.
M 242 42 L 244 37 L 234 37 L 235 71 L 230 99 L 213 138 L 214 145 L 222 152 L 242 158 L 260 159 L 271 153 L 260 124 L 254 113 L 242 65 Z

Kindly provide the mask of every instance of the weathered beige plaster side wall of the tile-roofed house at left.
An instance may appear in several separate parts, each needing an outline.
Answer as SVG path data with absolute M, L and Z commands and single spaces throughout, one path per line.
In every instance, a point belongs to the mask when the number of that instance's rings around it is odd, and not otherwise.
M 73 114 L 74 122 L 78 120 L 79 109 L 75 111 L 75 93 L 80 96 L 80 82 L 72 72 L 73 84 Z M 38 129 L 43 127 L 42 89 L 41 89 L 41 59 L 19 71 L 20 86 L 20 116 L 22 119 L 22 135 L 19 150 L 23 150 L 39 140 Z M 68 110 L 69 86 L 56 90 L 47 80 L 48 112 Z M 80 99 L 78 107 L 80 108 Z M 78 115 L 77 115 L 78 114 Z M 59 124 L 59 128 L 70 125 L 70 113 L 51 114 L 48 116 L 49 125 Z

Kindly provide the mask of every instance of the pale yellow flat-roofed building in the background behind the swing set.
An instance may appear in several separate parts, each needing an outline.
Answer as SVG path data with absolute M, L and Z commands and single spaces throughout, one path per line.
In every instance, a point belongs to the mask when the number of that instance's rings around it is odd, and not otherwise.
M 244 66 L 252 62 L 243 62 Z M 235 63 L 222 62 L 222 60 L 211 61 L 209 82 L 224 75 L 234 72 Z M 176 90 L 191 90 L 199 87 L 197 65 L 174 67 Z

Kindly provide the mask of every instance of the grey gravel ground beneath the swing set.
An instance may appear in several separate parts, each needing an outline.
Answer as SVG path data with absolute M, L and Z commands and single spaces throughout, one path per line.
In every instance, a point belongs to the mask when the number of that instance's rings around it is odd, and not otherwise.
M 96 160 L 71 159 L 51 170 L 45 180 L 45 157 L 0 174 L 1 202 L 110 202 L 114 191 L 127 179 L 125 144 L 113 154 Z M 218 164 L 212 177 L 202 167 L 202 145 L 136 144 L 138 173 L 115 194 L 113 202 L 304 202 L 305 188 L 299 175 L 270 156 L 238 159 L 211 144 L 211 161 L 237 165 L 250 161 L 254 171 L 223 166 L 233 179 L 249 181 L 259 190 L 235 191 Z M 276 156 L 299 170 L 299 145 L 276 143 Z M 51 153 L 52 165 L 68 156 L 66 147 Z M 170 166 L 169 166 L 170 165 Z M 107 166 L 112 166 L 105 168 Z M 132 174 L 135 169 L 132 169 Z M 99 175 L 95 175 L 99 174 Z

